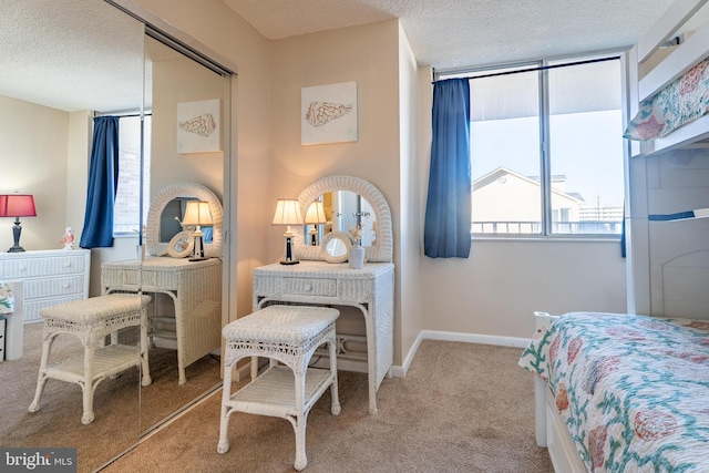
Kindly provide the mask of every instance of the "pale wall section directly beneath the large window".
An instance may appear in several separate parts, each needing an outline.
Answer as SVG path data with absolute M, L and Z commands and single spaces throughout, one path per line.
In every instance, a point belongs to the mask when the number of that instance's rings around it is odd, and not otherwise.
M 533 311 L 625 312 L 617 241 L 477 240 L 469 259 L 424 257 L 427 330 L 530 338 Z

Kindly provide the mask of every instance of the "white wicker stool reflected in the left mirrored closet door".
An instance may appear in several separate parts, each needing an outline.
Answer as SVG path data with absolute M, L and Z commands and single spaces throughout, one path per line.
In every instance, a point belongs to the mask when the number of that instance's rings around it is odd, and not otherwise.
M 50 378 L 75 382 L 81 387 L 83 392 L 81 423 L 84 425 L 94 420 L 93 393 L 104 378 L 140 366 L 143 370 L 141 384 L 148 385 L 152 382 L 147 364 L 146 306 L 150 300 L 150 296 L 112 294 L 41 309 L 40 316 L 44 319 L 42 360 L 30 412 L 40 410 L 42 391 Z M 106 336 L 119 329 L 135 326 L 141 327 L 138 346 L 119 343 L 105 346 Z M 60 333 L 76 336 L 84 347 L 84 352 L 50 363 L 52 342 Z

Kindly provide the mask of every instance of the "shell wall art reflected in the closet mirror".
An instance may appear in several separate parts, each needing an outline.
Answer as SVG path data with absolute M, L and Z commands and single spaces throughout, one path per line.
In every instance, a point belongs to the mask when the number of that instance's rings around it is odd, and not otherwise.
M 177 153 L 222 151 L 222 101 L 219 99 L 177 104 Z

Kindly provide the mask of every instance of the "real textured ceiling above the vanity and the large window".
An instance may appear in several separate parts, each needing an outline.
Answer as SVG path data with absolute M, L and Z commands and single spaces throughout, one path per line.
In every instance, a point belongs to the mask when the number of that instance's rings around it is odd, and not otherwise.
M 419 64 L 501 64 L 635 44 L 672 0 L 223 0 L 268 39 L 399 18 Z

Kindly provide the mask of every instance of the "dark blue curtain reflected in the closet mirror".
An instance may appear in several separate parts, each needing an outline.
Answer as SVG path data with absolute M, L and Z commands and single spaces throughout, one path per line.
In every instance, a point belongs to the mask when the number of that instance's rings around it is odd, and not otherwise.
M 79 246 L 113 246 L 113 203 L 119 185 L 119 117 L 93 119 L 93 146 L 84 229 Z

